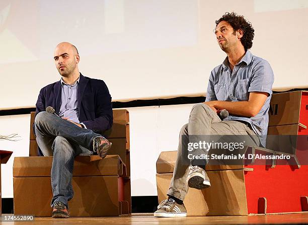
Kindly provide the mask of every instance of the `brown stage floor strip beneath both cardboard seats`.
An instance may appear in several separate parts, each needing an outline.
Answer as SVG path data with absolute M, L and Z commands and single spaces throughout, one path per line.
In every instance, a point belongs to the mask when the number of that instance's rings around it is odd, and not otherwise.
M 308 213 L 274 214 L 274 215 L 249 215 L 249 216 L 187 216 L 177 218 L 153 217 L 152 213 L 133 213 L 129 216 L 118 217 L 70 217 L 66 219 L 35 218 L 33 221 L 5 221 L 3 214 L 1 224 L 273 224 L 273 223 L 308 223 Z

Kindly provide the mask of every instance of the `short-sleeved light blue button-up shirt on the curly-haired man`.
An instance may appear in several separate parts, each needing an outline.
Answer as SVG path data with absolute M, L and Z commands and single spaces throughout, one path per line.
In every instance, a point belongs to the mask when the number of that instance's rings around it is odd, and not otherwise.
M 269 93 L 262 109 L 256 116 L 229 115 L 224 119 L 249 122 L 254 132 L 258 134 L 261 144 L 265 147 L 273 82 L 274 73 L 270 64 L 263 58 L 247 51 L 241 61 L 234 66 L 233 71 L 229 67 L 227 57 L 221 65 L 212 70 L 205 101 L 248 101 L 249 92 Z

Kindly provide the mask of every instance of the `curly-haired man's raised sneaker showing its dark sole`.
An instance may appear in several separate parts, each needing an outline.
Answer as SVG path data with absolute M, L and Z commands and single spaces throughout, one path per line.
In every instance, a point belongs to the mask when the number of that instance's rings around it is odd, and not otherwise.
M 188 187 L 201 190 L 211 186 L 205 170 L 198 166 L 190 166 L 189 169 L 190 171 L 186 180 Z

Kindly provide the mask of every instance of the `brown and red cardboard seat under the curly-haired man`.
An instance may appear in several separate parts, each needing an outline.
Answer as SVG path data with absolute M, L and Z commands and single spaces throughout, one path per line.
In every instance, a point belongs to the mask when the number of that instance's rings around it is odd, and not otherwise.
M 308 92 L 273 94 L 269 112 L 268 134 L 308 135 Z M 283 143 L 283 142 L 282 142 Z M 297 144 L 297 143 L 296 143 Z M 308 156 L 308 139 L 296 145 L 293 152 L 284 151 L 281 143 L 267 141 L 267 148 L 255 151 L 280 151 L 296 158 Z M 273 151 L 273 148 L 275 151 Z M 251 148 L 250 148 L 251 149 Z M 173 176 L 177 151 L 162 152 L 157 160 L 157 191 L 159 202 Z M 249 215 L 258 213 L 289 213 L 308 211 L 307 161 L 294 165 L 207 165 L 211 187 L 190 188 L 184 200 L 190 216 Z

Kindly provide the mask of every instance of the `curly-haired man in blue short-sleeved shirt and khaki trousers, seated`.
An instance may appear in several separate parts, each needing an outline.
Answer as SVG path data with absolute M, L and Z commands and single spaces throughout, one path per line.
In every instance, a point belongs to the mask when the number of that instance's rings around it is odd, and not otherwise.
M 274 82 L 272 68 L 248 50 L 252 47 L 254 29 L 243 16 L 226 13 L 216 21 L 214 33 L 227 56 L 211 71 L 205 102 L 193 106 L 188 124 L 180 131 L 169 197 L 161 202 L 154 216 L 186 216 L 183 201 L 188 187 L 210 187 L 205 172 L 208 159 L 200 157 L 208 156 L 208 152 L 198 145 L 190 154 L 189 144 L 199 143 L 202 137 L 211 138 L 206 139 L 210 142 L 215 135 L 223 134 L 219 142 L 231 139 L 234 143 L 245 141 L 245 145 L 265 147 Z M 223 109 L 229 113 L 226 118 L 217 115 Z

